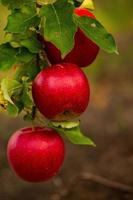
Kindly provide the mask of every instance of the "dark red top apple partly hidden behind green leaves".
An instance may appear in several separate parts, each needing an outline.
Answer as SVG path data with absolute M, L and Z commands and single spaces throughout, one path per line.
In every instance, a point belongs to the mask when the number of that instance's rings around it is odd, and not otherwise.
M 76 8 L 74 13 L 78 16 L 87 16 L 95 18 L 95 16 L 87 9 Z M 58 63 L 74 63 L 80 67 L 89 66 L 97 57 L 99 47 L 79 28 L 75 34 L 75 45 L 74 48 L 65 56 L 61 58 L 61 52 L 51 42 L 43 39 L 45 45 L 45 51 L 51 64 Z

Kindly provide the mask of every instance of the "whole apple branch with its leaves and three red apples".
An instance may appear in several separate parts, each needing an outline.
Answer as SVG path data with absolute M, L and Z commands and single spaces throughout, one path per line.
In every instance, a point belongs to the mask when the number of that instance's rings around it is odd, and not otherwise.
M 118 53 L 117 46 L 93 14 L 92 0 L 0 4 L 10 10 L 0 45 L 0 71 L 7 74 L 0 82 L 0 111 L 12 117 L 22 114 L 32 124 L 13 134 L 8 160 L 24 180 L 48 180 L 64 159 L 61 136 L 95 146 L 77 119 L 90 101 L 91 86 L 82 69 L 99 50 Z

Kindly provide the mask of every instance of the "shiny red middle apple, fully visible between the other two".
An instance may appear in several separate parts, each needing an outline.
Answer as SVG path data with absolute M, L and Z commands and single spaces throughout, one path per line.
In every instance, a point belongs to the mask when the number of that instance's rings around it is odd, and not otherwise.
M 46 68 L 37 75 L 32 94 L 37 108 L 46 118 L 63 121 L 85 111 L 90 88 L 80 67 L 62 63 Z

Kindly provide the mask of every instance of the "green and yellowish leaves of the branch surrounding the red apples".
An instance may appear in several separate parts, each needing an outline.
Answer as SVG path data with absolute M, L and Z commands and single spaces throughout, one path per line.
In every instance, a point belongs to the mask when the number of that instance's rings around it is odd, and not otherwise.
M 0 46 L 0 71 L 8 72 L 8 78 L 0 83 L 0 111 L 8 115 L 17 117 L 23 113 L 24 120 L 43 120 L 31 92 L 36 75 L 50 66 L 42 38 L 55 45 L 64 58 L 73 49 L 74 36 L 80 28 L 100 49 L 117 53 L 113 36 L 97 19 L 74 13 L 75 7 L 93 10 L 91 0 L 0 0 L 0 4 L 10 10 Z M 78 121 L 43 123 L 74 144 L 94 145 L 81 133 Z

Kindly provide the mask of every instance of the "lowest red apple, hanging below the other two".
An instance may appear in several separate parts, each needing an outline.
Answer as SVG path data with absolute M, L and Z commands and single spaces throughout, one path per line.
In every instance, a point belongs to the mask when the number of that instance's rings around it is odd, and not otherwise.
M 9 139 L 11 168 L 25 181 L 42 182 L 56 175 L 64 160 L 64 142 L 50 128 L 23 128 Z

